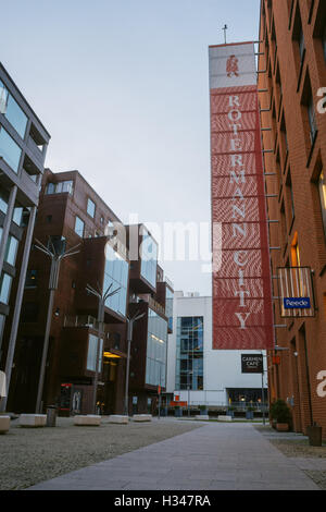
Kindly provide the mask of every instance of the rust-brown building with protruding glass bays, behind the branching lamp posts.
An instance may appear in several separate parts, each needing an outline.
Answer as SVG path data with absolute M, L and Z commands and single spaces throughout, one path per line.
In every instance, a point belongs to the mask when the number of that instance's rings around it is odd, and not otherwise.
M 130 261 L 129 244 L 134 240 L 137 249 L 140 247 L 142 252 L 138 259 L 136 252 Z M 61 261 L 58 287 L 50 306 L 51 260 L 39 247 L 57 254 L 72 252 Z M 150 343 L 153 342 L 152 334 L 163 340 L 160 354 L 162 365 L 165 365 L 167 338 L 161 326 L 162 321 L 167 326 L 165 283 L 156 259 L 156 246 L 146 228 L 125 229 L 78 171 L 53 173 L 46 170 L 25 282 L 8 410 L 35 411 L 48 310 L 51 327 L 42 410 L 58 404 L 61 414 L 92 413 L 96 390 L 99 412 L 124 412 L 127 322 L 139 308 L 146 312 L 147 317 L 135 324 L 133 332 L 129 410 L 135 394 L 135 366 L 138 366 L 138 391 L 146 393 L 145 388 L 149 385 L 149 393 L 155 391 L 156 394 L 158 375 L 152 375 L 148 359 L 153 358 L 155 365 L 159 356 L 156 353 L 152 355 Z M 99 298 L 89 292 L 90 289 L 102 297 L 106 291 L 116 292 L 105 301 L 103 297 L 103 317 Z M 156 290 L 161 291 L 158 297 Z M 158 318 L 163 318 L 159 330 Z M 140 367 L 146 368 L 149 375 L 143 381 L 139 380 Z M 165 375 L 165 366 L 160 371 Z M 147 404 L 147 398 L 139 400 L 138 411 L 146 412 Z

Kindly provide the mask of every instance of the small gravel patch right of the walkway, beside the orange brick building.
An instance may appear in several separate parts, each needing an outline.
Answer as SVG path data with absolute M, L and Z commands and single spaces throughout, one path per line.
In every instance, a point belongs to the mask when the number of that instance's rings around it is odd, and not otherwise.
M 277 432 L 271 427 L 255 426 L 268 441 L 293 462 L 321 489 L 326 490 L 326 442 L 311 447 L 308 437 L 293 432 Z

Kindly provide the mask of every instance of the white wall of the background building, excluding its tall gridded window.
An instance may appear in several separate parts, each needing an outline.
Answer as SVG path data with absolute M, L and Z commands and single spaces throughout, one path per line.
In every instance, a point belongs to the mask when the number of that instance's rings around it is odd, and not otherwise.
M 173 306 L 173 334 L 168 336 L 167 349 L 167 392 L 175 389 L 176 326 L 177 317 L 202 316 L 204 318 L 204 391 L 190 391 L 190 403 L 226 404 L 227 388 L 262 389 L 262 376 L 241 373 L 241 354 L 261 351 L 217 351 L 212 350 L 212 297 L 183 296 L 175 292 Z M 263 352 L 266 355 L 265 352 Z M 264 357 L 264 365 L 266 358 Z M 266 368 L 265 368 L 266 369 Z M 267 387 L 266 374 L 264 387 Z M 188 401 L 188 391 L 178 393 L 180 400 Z

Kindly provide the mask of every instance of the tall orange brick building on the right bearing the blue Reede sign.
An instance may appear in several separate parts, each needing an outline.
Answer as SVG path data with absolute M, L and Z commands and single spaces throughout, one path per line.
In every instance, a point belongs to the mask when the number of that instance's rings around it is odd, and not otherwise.
M 269 394 L 271 401 L 288 402 L 296 431 L 306 432 L 316 423 L 325 437 L 326 2 L 262 0 L 260 40 L 259 89 L 280 348 L 271 354 Z

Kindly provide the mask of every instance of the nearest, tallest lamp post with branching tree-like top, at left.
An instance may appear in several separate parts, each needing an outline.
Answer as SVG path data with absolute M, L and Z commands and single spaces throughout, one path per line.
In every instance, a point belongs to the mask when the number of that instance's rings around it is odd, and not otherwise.
M 41 358 L 41 365 L 40 365 L 40 375 L 39 375 L 39 382 L 38 382 L 38 391 L 37 391 L 37 400 L 36 400 L 36 413 L 39 414 L 41 412 L 41 400 L 42 400 L 42 392 L 43 392 L 48 349 L 49 349 L 49 338 L 50 338 L 50 329 L 51 329 L 52 313 L 53 313 L 53 302 L 54 302 L 55 291 L 58 290 L 60 264 L 61 264 L 62 259 L 67 258 L 68 256 L 73 256 L 73 255 L 79 253 L 79 251 L 75 251 L 75 249 L 77 247 L 79 247 L 80 244 L 75 245 L 74 247 L 70 248 L 68 251 L 64 251 L 64 247 L 61 246 L 61 251 L 60 251 L 60 248 L 54 247 L 51 239 L 49 239 L 49 245 L 51 244 L 51 247 L 52 247 L 52 251 L 50 251 L 49 247 L 46 247 L 38 240 L 36 240 L 36 242 L 39 245 L 35 245 L 35 248 L 37 248 L 38 251 L 41 251 L 42 253 L 45 253 L 47 256 L 49 256 L 51 258 L 51 270 L 50 270 L 50 279 L 49 279 L 50 296 L 49 296 L 43 351 L 42 351 L 42 358 Z

